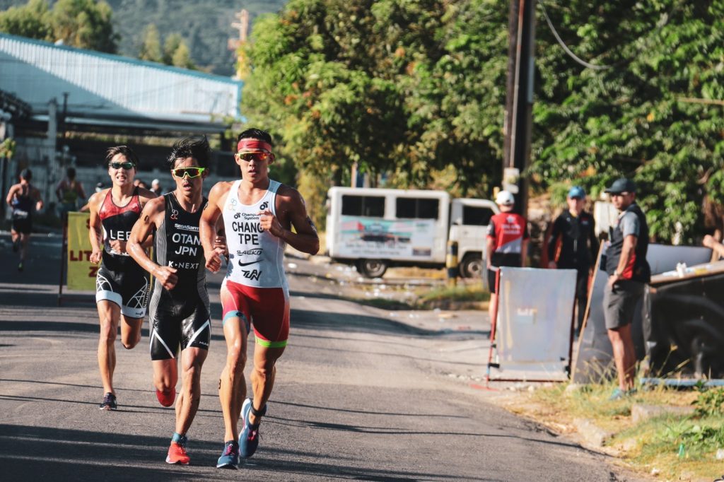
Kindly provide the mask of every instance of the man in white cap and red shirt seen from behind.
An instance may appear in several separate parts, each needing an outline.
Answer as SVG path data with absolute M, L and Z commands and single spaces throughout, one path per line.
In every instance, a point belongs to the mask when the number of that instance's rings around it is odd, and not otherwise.
M 490 288 L 490 321 L 497 313 L 497 273 L 499 266 L 525 266 L 528 252 L 528 222 L 520 214 L 513 213 L 515 198 L 509 191 L 500 191 L 495 197 L 500 213 L 490 218 L 488 224 L 486 259 L 488 286 Z

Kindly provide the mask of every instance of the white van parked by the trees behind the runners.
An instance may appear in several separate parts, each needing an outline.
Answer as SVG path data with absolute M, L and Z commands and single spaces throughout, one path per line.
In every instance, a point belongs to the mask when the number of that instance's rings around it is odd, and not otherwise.
M 327 193 L 327 254 L 376 278 L 388 266 L 445 266 L 458 242 L 460 276 L 480 277 L 491 200 L 452 199 L 444 191 L 332 187 Z

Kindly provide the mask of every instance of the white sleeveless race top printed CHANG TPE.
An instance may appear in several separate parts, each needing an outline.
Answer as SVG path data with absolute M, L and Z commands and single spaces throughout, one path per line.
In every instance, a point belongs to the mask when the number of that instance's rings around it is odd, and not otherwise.
M 284 250 L 287 243 L 261 230 L 259 211 L 269 209 L 277 215 L 275 201 L 280 183 L 269 179 L 266 193 L 251 206 L 239 200 L 238 180 L 232 184 L 224 203 L 224 229 L 229 248 L 226 279 L 258 288 L 287 287 L 284 274 Z

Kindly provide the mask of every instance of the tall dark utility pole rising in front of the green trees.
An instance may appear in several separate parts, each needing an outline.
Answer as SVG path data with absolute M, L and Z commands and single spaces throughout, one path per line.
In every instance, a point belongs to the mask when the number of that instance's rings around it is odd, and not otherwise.
M 515 211 L 523 216 L 528 212 L 529 182 L 521 174 L 531 156 L 535 20 L 535 0 L 510 0 L 502 188 L 515 195 Z

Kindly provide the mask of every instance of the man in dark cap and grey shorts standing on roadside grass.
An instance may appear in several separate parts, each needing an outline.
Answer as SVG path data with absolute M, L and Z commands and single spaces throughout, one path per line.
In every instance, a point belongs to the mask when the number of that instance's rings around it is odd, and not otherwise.
M 636 350 L 631 323 L 646 284 L 651 281 L 651 269 L 646 260 L 649 225 L 644 211 L 636 204 L 636 184 L 631 179 L 616 179 L 606 193 L 610 194 L 611 203 L 619 211 L 606 252 L 608 282 L 603 310 L 618 372 L 618 388 L 610 398 L 620 399 L 636 392 L 633 388 Z

